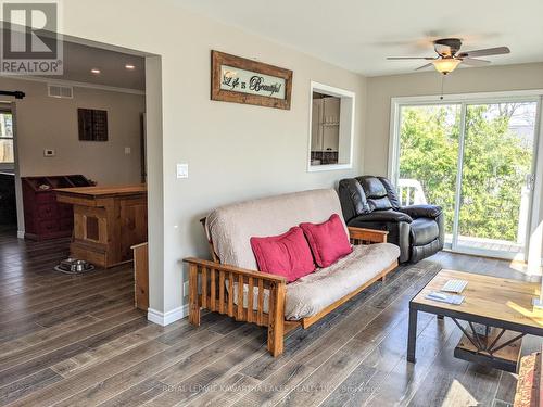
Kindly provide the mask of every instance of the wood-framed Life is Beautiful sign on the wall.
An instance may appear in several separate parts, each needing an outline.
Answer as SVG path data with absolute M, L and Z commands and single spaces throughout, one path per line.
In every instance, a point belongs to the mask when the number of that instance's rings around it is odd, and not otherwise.
M 211 99 L 290 110 L 292 71 L 211 51 Z

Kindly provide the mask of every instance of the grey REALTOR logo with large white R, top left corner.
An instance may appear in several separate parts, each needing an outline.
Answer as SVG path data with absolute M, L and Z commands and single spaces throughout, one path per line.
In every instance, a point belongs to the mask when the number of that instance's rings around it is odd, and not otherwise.
M 0 73 L 62 75 L 56 2 L 2 2 Z

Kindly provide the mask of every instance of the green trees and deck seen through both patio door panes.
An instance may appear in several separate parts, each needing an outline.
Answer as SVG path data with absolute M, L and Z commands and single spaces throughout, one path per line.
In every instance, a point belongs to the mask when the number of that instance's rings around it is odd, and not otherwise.
M 460 104 L 401 110 L 401 192 L 405 194 L 405 180 L 418 181 L 426 201 L 443 206 L 449 240 L 454 222 L 460 111 Z M 522 247 L 535 111 L 535 103 L 467 105 L 459 244 L 500 251 Z

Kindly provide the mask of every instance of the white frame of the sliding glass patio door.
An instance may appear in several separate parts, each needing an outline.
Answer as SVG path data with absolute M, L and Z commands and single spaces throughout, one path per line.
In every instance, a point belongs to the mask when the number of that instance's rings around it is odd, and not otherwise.
M 457 231 L 459 221 L 459 205 L 455 205 L 455 219 L 453 227 L 453 243 L 451 249 L 456 253 L 464 254 L 475 254 L 483 255 L 489 257 L 516 259 L 521 262 L 528 262 L 529 268 L 539 268 L 543 264 L 542 255 L 542 244 L 538 246 L 531 245 L 531 240 L 543 241 L 542 228 L 539 225 L 539 216 L 533 214 L 540 214 L 541 207 L 540 202 L 543 198 L 543 163 L 540 163 L 538 157 L 543 157 L 543 115 L 541 114 L 543 104 L 543 89 L 531 89 L 531 90 L 515 90 L 515 91 L 500 91 L 500 92 L 480 92 L 480 93 L 458 93 L 458 94 L 444 94 L 443 97 L 437 96 L 417 96 L 417 97 L 394 97 L 391 98 L 391 112 L 390 112 L 390 135 L 389 135 L 389 156 L 388 156 L 388 177 L 397 185 L 399 171 L 400 171 L 400 114 L 402 106 L 416 106 L 416 105 L 439 105 L 439 104 L 459 104 L 460 112 L 460 139 L 464 140 L 466 124 L 464 123 L 466 106 L 469 104 L 495 104 L 495 103 L 507 103 L 507 102 L 535 102 L 536 117 L 535 117 L 535 129 L 534 129 L 534 141 L 533 141 L 533 156 L 532 156 L 532 174 L 534 175 L 533 190 L 531 191 L 530 202 L 529 202 L 529 216 L 527 225 L 527 238 L 525 244 L 525 251 L 522 258 L 518 258 L 515 254 L 505 254 L 502 252 L 492 251 L 479 251 L 468 247 L 457 246 Z M 460 151 L 458 152 L 458 174 L 455 190 L 455 202 L 458 202 L 460 193 L 462 179 L 462 165 L 464 160 L 463 142 L 459 145 Z M 543 219 L 542 219 L 543 220 Z M 532 252 L 532 253 L 531 253 Z M 539 253 L 533 253 L 539 252 Z M 534 264 L 534 262 L 536 264 Z M 530 264 L 532 263 L 532 264 Z

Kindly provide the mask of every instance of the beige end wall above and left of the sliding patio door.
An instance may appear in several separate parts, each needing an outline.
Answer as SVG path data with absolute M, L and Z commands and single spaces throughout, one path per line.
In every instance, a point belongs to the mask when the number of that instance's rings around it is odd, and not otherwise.
M 459 68 L 444 84 L 444 93 L 526 89 L 543 89 L 543 63 Z M 440 90 L 441 76 L 434 71 L 367 78 L 365 174 L 387 175 L 391 98 L 438 96 Z

